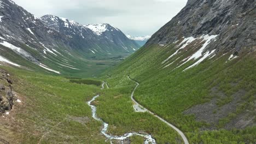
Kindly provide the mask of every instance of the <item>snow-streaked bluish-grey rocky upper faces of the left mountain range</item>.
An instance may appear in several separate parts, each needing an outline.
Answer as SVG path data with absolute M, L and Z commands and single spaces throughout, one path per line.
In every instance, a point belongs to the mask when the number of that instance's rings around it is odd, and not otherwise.
M 13 1 L 0 0 L 0 55 L 11 61 L 13 57 L 8 54 L 14 51 L 39 65 L 51 58 L 48 54 L 106 58 L 126 56 L 139 48 L 119 29 L 104 26 L 106 31 L 98 35 L 77 22 L 53 15 L 38 18 Z

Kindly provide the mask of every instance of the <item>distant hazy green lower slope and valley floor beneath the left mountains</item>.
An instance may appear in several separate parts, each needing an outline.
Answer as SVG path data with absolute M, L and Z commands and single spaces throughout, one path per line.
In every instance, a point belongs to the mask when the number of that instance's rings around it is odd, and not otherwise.
M 53 53 L 50 52 L 44 55 L 43 53 L 40 53 L 26 45 L 22 46 L 22 48 L 31 53 L 31 55 L 36 59 L 40 59 L 38 60 L 39 63 L 42 63 L 55 71 L 60 71 L 60 76 L 66 77 L 94 77 L 97 74 L 102 73 L 102 71 L 107 68 L 122 61 L 123 58 L 123 56 L 88 58 L 88 56 L 85 57 L 75 52 L 69 53 L 62 49 L 57 49 L 60 53 L 57 53 L 56 55 L 53 55 Z M 0 53 L 1 56 L 9 59 L 9 61 L 26 67 L 26 69 L 31 69 L 45 74 L 59 75 L 39 67 L 36 63 L 28 61 L 28 59 L 18 55 L 8 47 L 0 45 Z

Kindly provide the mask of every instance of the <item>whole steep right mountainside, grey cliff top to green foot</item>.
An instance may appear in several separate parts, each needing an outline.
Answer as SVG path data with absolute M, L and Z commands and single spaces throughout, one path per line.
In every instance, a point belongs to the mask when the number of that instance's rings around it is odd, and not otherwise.
M 106 72 L 190 143 L 255 143 L 255 1 L 190 0 L 146 45 Z M 166 141 L 168 142 L 168 141 Z

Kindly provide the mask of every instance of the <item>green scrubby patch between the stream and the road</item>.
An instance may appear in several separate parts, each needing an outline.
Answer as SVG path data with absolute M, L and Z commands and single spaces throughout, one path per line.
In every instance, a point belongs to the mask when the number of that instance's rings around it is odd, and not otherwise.
M 98 117 L 109 123 L 109 133 L 124 135 L 132 131 L 146 132 L 152 134 L 158 143 L 182 141 L 173 129 L 156 117 L 133 110 L 130 96 L 136 85 L 127 77 L 126 81 L 126 86 L 105 89 L 95 103 L 98 107 Z

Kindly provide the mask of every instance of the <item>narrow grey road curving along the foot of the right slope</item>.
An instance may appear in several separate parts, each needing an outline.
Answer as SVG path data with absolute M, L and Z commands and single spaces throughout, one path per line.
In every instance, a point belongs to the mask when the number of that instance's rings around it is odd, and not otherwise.
M 174 130 L 176 130 L 176 131 L 178 132 L 178 134 L 181 135 L 181 137 L 182 137 L 184 143 L 185 143 L 185 144 L 189 144 L 187 137 L 184 135 L 184 133 L 183 133 L 181 130 L 179 130 L 179 129 L 176 128 L 174 125 L 172 125 L 172 124 L 168 123 L 167 121 L 165 121 L 165 119 L 159 117 L 158 115 L 155 115 L 155 113 L 149 111 L 148 109 L 146 109 L 145 107 L 143 107 L 142 105 L 140 105 L 140 104 L 133 98 L 133 94 L 134 94 L 135 90 L 137 89 L 137 87 L 139 86 L 139 83 L 138 83 L 137 81 L 135 81 L 135 80 L 132 80 L 130 76 L 128 76 L 128 79 L 131 80 L 131 81 L 136 82 L 136 84 L 137 84 L 136 87 L 133 89 L 132 94 L 131 94 L 131 99 L 132 99 L 133 103 L 135 103 L 137 106 L 141 107 L 141 108 L 144 109 L 145 111 L 149 112 L 149 113 L 152 114 L 153 116 L 157 117 L 158 119 L 160 119 L 160 121 L 166 123 L 168 126 L 170 126 L 171 128 L 173 128 Z

